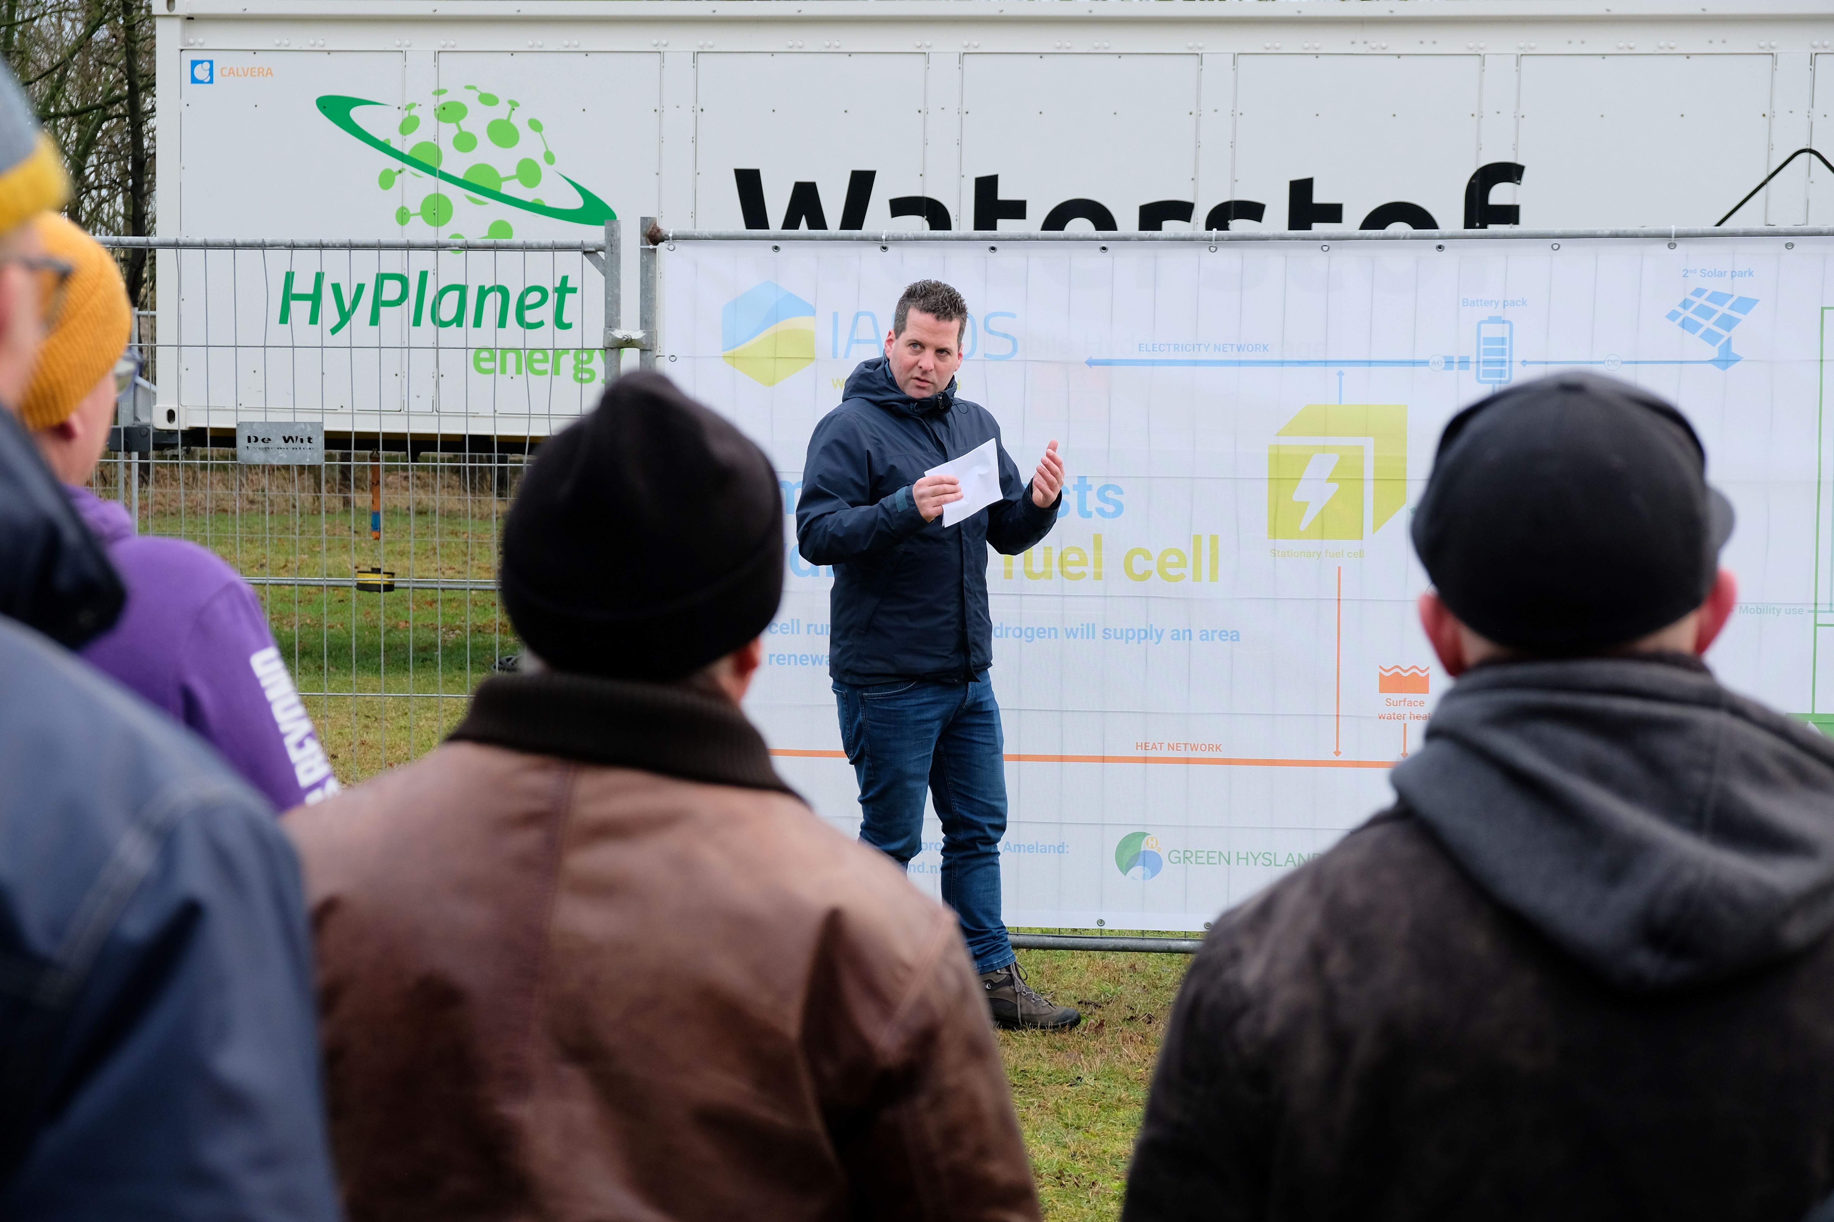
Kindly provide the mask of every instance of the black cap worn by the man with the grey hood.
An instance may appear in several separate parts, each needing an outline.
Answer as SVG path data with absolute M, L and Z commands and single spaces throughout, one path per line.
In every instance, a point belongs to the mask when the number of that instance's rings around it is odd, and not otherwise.
M 1610 377 L 1555 374 L 1453 416 L 1412 535 L 1471 630 L 1572 656 L 1700 606 L 1731 528 L 1674 407 Z

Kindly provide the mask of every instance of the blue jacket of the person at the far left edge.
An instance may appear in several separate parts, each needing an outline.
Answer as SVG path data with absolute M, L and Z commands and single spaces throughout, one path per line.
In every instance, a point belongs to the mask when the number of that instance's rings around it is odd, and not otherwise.
M 70 513 L 18 456 L 0 438 L 7 528 Z M 0 566 L 0 606 L 106 627 L 119 586 L 59 531 Z M 332 1222 L 304 905 L 266 802 L 11 619 L 0 676 L 0 1217 Z

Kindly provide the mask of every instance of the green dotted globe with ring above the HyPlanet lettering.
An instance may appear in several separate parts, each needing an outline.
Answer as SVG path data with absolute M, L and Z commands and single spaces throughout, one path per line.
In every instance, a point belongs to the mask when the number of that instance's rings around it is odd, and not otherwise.
M 616 213 L 611 211 L 609 203 L 552 169 L 556 158 L 554 150 L 548 148 L 547 130 L 543 128 L 541 119 L 517 121 L 515 112 L 521 108 L 519 101 L 486 93 L 475 84 L 468 84 L 464 88 L 471 95 L 470 103 L 458 97 L 449 97 L 451 90 L 433 90 L 433 103 L 409 103 L 405 106 L 405 114 L 396 125 L 396 134 L 402 137 L 405 148 L 396 148 L 394 139 L 380 139 L 370 132 L 365 132 L 354 117 L 354 112 L 359 106 L 383 106 L 385 103 L 370 101 L 367 97 L 326 93 L 317 99 L 317 106 L 319 114 L 330 119 L 341 132 L 363 141 L 376 152 L 381 152 L 405 167 L 389 167 L 378 174 L 376 183 L 383 191 L 394 191 L 396 180 L 402 174 L 407 174 L 413 178 L 431 178 L 435 183 L 457 187 L 460 200 L 490 211 L 495 211 L 493 205 L 503 205 L 519 213 L 534 213 L 536 216 L 565 220 L 576 225 L 603 225 L 607 220 L 616 218 Z M 499 108 L 503 112 L 495 114 Z M 422 110 L 429 110 L 433 115 L 433 128 L 427 132 L 422 132 L 422 114 L 418 114 Z M 468 121 L 473 126 L 482 126 L 484 130 L 484 139 L 490 143 L 490 148 L 484 148 L 482 154 L 479 154 L 481 143 L 477 132 L 466 130 Z M 451 130 L 447 132 L 447 128 Z M 536 139 L 525 143 L 525 134 L 534 136 Z M 416 136 L 420 139 L 414 139 Z M 541 143 L 539 158 L 534 156 L 532 148 L 536 141 Z M 523 156 L 517 156 L 517 150 L 523 150 Z M 510 169 L 499 169 L 499 161 L 495 161 L 499 154 L 504 161 L 508 158 L 515 158 L 515 163 L 510 165 Z M 458 165 L 458 158 L 466 159 L 466 167 L 462 172 L 453 174 L 446 167 L 447 163 Z M 548 174 L 561 180 L 580 194 L 580 203 L 576 207 L 552 207 L 541 196 L 530 196 L 525 200 L 510 194 L 510 189 L 537 191 Z M 447 229 L 447 225 L 453 224 L 455 214 L 457 203 L 453 196 L 435 185 L 414 207 L 407 207 L 405 203 L 396 207 L 394 224 L 407 225 L 418 216 L 435 229 L 446 229 L 444 236 L 462 238 L 462 233 L 451 233 Z M 482 218 L 479 220 L 482 222 Z M 497 216 L 490 220 L 486 231 L 477 236 L 514 238 L 515 225 L 512 225 L 506 218 Z

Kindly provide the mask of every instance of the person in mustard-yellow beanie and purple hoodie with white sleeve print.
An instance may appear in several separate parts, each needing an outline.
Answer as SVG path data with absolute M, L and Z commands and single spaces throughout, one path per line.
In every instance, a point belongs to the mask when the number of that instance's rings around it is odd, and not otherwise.
M 62 216 L 33 227 L 72 273 L 18 416 L 127 586 L 121 619 L 83 658 L 204 736 L 277 810 L 336 793 L 248 583 L 194 542 L 136 535 L 127 509 L 84 487 L 139 368 L 127 352 L 132 310 L 121 269 L 95 238 Z

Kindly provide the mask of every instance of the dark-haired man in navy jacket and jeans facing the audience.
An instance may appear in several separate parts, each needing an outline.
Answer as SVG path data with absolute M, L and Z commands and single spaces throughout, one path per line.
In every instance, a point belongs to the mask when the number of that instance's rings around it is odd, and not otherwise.
M 1000 705 L 987 678 L 987 544 L 1016 555 L 1056 520 L 1064 460 L 1045 447 L 1031 484 L 979 403 L 956 398 L 968 306 L 941 280 L 899 297 L 886 355 L 862 361 L 845 399 L 809 438 L 796 542 L 834 566 L 829 674 L 840 740 L 860 779 L 860 839 L 910 865 L 928 788 L 943 821 L 943 901 L 961 922 L 994 1020 L 1071 1028 L 1020 975 L 1000 920 L 1007 777 Z M 954 475 L 926 475 L 994 443 L 1000 498 L 959 522 Z

